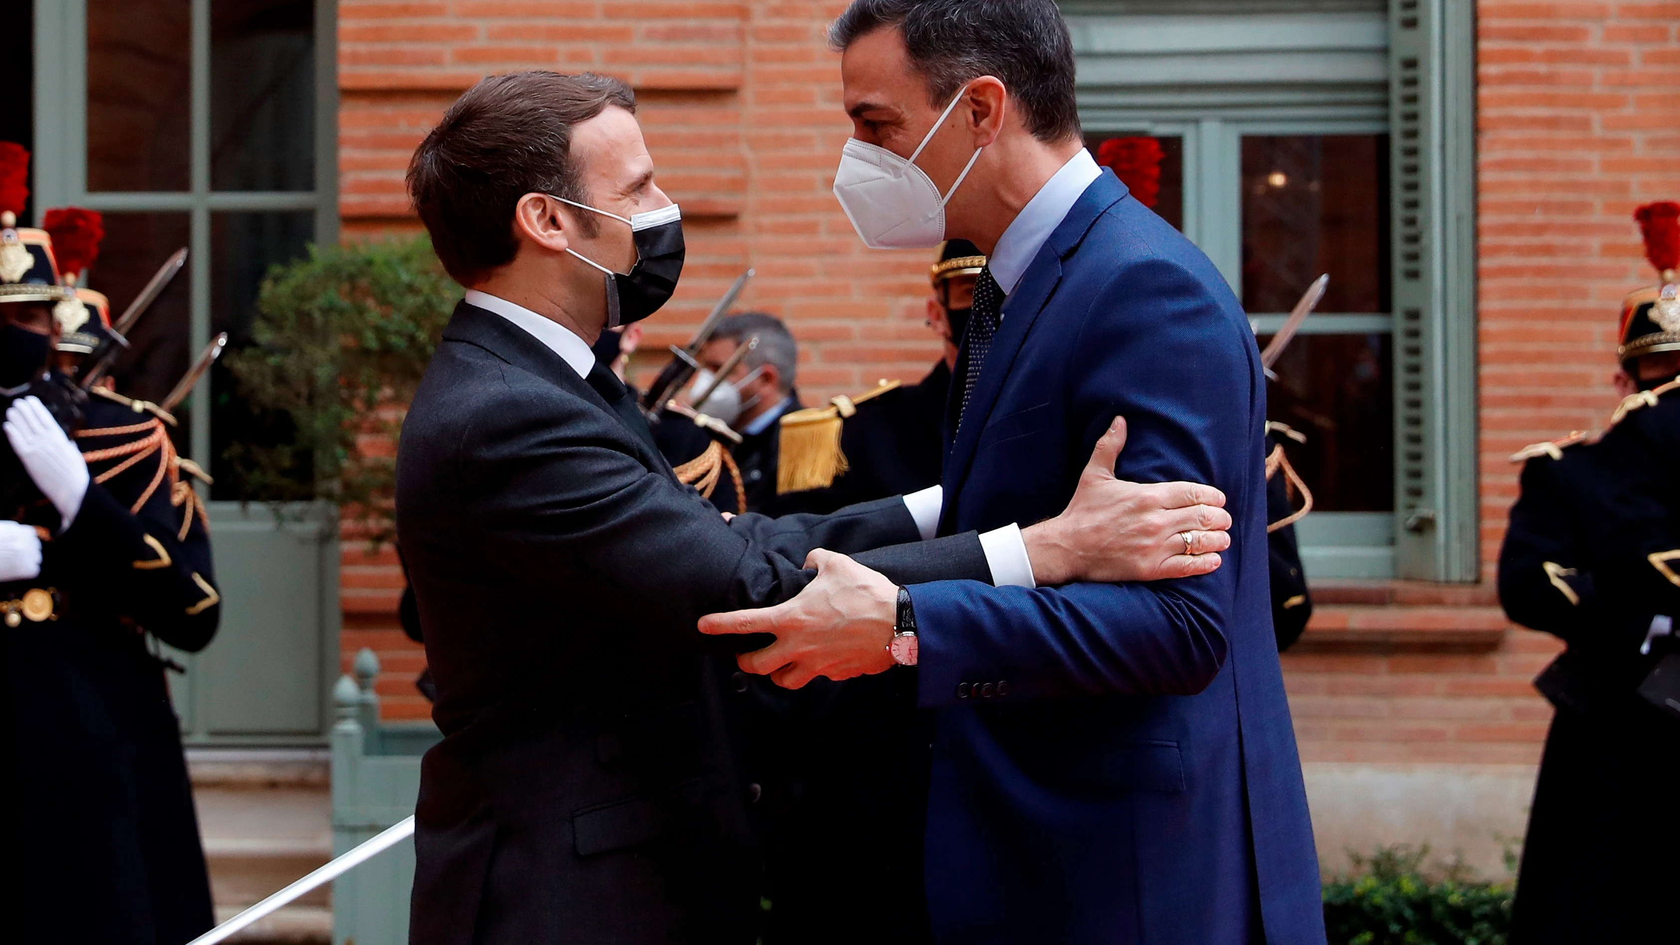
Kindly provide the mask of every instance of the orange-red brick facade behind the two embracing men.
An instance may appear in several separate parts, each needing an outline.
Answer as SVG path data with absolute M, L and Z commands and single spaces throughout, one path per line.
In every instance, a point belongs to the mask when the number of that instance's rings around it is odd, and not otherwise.
M 648 344 L 684 339 L 741 269 L 744 304 L 786 317 L 806 398 L 914 379 L 926 253 L 874 253 L 828 186 L 848 126 L 822 30 L 840 2 L 339 2 L 346 233 L 415 223 L 403 168 L 479 76 L 596 69 L 628 79 L 690 262 Z M 1557 646 L 1504 621 L 1490 584 L 1515 467 L 1601 428 L 1616 304 L 1651 279 L 1635 205 L 1680 196 L 1680 3 L 1480 0 L 1478 586 L 1319 586 L 1284 660 L 1312 762 L 1530 765 L 1551 718 L 1529 680 Z M 346 660 L 380 651 L 388 712 L 425 713 L 420 656 L 395 629 L 395 559 L 344 551 Z

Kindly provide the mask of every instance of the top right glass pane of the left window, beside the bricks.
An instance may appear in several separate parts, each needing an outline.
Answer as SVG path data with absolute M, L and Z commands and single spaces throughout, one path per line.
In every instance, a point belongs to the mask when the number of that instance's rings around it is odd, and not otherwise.
M 210 13 L 210 186 L 314 190 L 314 0 Z

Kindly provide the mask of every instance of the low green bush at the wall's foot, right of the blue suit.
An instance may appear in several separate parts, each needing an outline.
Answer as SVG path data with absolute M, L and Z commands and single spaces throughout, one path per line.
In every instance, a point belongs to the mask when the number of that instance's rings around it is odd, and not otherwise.
M 1428 854 L 1428 844 L 1349 854 L 1354 876 L 1324 885 L 1331 945 L 1505 945 L 1512 885 L 1477 881 L 1460 864 L 1426 876 Z

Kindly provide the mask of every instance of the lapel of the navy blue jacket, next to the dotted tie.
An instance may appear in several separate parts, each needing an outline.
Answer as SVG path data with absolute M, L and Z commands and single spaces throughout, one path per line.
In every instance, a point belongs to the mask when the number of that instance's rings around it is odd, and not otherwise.
M 981 366 L 974 394 L 968 401 L 968 411 L 963 415 L 954 440 L 951 440 L 949 452 L 946 452 L 941 475 L 944 509 L 939 514 L 939 534 L 951 534 L 954 530 L 956 497 L 961 493 L 968 470 L 974 462 L 979 435 L 986 428 L 986 420 L 991 416 L 993 408 L 998 405 L 998 394 L 1003 393 L 1003 383 L 1008 379 L 1010 369 L 1015 366 L 1015 358 L 1026 342 L 1033 322 L 1038 321 L 1038 314 L 1043 312 L 1062 284 L 1062 262 L 1079 248 L 1080 240 L 1090 232 L 1097 217 L 1119 203 L 1126 193 L 1126 185 L 1114 176 L 1114 171 L 1104 168 L 1102 176 L 1085 188 L 1085 193 L 1074 201 L 1067 217 L 1062 218 L 1062 223 L 1050 233 L 1045 245 L 1040 247 L 1038 255 L 1026 267 L 1015 292 L 1005 299 L 1003 322 L 998 326 L 998 334 L 991 339 L 991 351 L 986 352 L 986 363 Z M 956 388 L 956 384 L 951 384 L 949 396 L 961 401 L 963 393 Z M 948 411 L 948 416 L 954 416 L 954 411 Z

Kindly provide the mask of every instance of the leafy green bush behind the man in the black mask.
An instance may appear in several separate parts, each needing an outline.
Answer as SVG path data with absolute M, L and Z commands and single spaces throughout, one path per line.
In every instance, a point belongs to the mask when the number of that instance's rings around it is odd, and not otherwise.
M 254 344 L 228 354 L 255 411 L 291 418 L 279 443 L 234 443 L 244 495 L 328 499 L 395 534 L 395 445 L 403 411 L 460 299 L 425 237 L 309 247 L 269 270 Z

